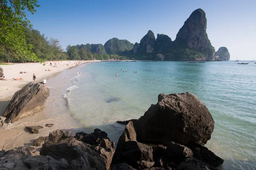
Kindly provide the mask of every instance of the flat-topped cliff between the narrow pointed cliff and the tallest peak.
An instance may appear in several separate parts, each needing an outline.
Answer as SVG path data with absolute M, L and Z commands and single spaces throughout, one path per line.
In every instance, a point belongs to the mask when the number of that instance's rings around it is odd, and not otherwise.
M 157 34 L 157 40 L 155 43 L 155 51 L 166 52 L 172 48 L 172 39 L 165 34 Z

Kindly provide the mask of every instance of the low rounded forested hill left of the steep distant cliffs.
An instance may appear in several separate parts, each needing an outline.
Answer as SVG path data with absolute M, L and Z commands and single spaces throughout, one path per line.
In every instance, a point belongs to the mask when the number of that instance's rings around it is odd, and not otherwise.
M 112 38 L 104 44 L 108 54 L 119 54 L 123 51 L 130 51 L 133 46 L 128 40 L 119 40 L 118 38 Z

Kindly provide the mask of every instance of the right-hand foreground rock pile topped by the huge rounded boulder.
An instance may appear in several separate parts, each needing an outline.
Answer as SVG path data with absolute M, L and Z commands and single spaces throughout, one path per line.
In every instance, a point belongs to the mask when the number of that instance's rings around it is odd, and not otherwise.
M 160 94 L 144 116 L 128 122 L 113 164 L 128 170 L 215 170 L 224 160 L 203 146 L 213 129 L 211 114 L 194 94 Z

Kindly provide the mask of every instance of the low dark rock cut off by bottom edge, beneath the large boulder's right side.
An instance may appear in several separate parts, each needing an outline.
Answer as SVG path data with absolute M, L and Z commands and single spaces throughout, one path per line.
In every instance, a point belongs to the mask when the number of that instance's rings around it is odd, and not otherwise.
M 201 161 L 192 159 L 192 160 L 186 160 L 181 162 L 180 165 L 177 166 L 176 170 L 217 170 L 217 169 L 214 167 L 210 167 Z

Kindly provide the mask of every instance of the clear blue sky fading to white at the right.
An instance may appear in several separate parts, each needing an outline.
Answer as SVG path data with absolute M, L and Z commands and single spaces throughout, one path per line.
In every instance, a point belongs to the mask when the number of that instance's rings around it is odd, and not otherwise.
M 38 0 L 27 14 L 33 28 L 58 39 L 62 48 L 105 44 L 116 37 L 140 42 L 148 30 L 175 40 L 189 15 L 201 8 L 215 51 L 224 46 L 230 60 L 256 60 L 256 0 Z

